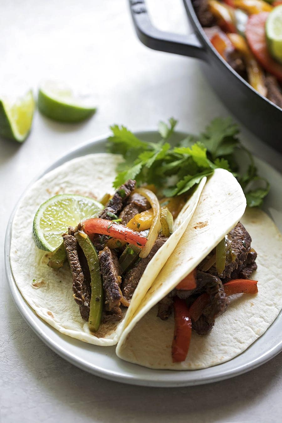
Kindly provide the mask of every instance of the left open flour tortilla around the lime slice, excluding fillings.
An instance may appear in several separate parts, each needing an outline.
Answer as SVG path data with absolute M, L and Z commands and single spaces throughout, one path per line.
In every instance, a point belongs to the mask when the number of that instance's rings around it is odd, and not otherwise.
M 49 268 L 46 265 L 49 254 L 36 247 L 32 228 L 38 207 L 53 195 L 80 194 L 99 200 L 105 193 L 113 193 L 112 182 L 120 161 L 122 157 L 116 154 L 89 154 L 52 170 L 27 191 L 19 203 L 12 223 L 11 268 L 16 284 L 27 303 L 38 316 L 61 333 L 102 346 L 117 343 L 124 320 L 101 324 L 98 332 L 90 332 L 88 323 L 80 316 L 79 307 L 73 299 L 72 277 L 68 264 L 59 270 Z M 131 309 L 136 310 L 185 231 L 205 181 L 206 178 L 203 178 L 194 190 L 175 220 L 174 232 L 145 269 L 126 313 L 129 316 L 132 315 Z

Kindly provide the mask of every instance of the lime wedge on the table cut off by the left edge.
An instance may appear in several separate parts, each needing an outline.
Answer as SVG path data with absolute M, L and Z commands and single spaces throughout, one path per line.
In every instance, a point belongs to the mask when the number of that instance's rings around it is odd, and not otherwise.
M 22 143 L 30 132 L 34 108 L 31 90 L 15 102 L 0 99 L 0 136 Z

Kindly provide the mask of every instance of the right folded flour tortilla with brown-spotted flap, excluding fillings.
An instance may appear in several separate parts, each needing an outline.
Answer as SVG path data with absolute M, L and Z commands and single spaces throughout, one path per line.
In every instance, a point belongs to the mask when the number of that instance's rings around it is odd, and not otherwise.
M 116 352 L 120 358 L 154 369 L 194 370 L 232 359 L 243 352 L 276 319 L 282 308 L 282 236 L 272 220 L 259 209 L 247 209 L 241 187 L 224 170 L 208 179 L 189 225 L 134 316 L 127 319 Z M 229 189 L 228 189 L 229 185 Z M 244 216 L 242 217 L 244 213 Z M 241 218 L 242 217 L 242 218 Z M 227 311 L 216 318 L 208 335 L 192 339 L 186 360 L 173 363 L 173 315 L 156 317 L 157 303 L 213 250 L 241 220 L 257 251 L 258 294 L 230 297 Z M 275 263 L 275 267 L 273 264 Z

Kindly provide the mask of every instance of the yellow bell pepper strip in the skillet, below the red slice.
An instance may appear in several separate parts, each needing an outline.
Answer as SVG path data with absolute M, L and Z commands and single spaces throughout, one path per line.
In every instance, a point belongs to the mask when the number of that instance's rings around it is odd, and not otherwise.
M 255 88 L 255 90 L 257 90 L 257 92 L 259 92 L 262 96 L 266 96 L 267 89 L 264 83 L 263 70 L 249 49 L 245 38 L 239 34 L 227 34 L 227 36 L 235 49 L 244 57 L 249 84 L 252 85 L 252 87 Z

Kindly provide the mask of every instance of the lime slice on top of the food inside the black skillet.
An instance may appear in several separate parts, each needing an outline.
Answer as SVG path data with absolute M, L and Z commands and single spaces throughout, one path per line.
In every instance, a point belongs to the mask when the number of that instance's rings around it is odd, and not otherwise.
M 267 18 L 266 39 L 271 55 L 282 63 L 282 5 L 275 7 Z

